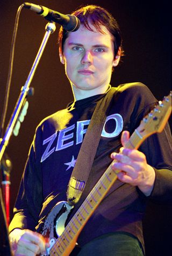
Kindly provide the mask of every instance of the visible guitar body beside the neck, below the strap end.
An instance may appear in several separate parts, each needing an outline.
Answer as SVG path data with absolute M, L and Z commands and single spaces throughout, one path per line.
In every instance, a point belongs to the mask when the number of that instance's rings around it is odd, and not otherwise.
M 48 216 L 46 217 L 44 226 L 41 231 L 42 236 L 44 236 L 46 239 L 49 239 L 50 247 L 47 248 L 46 255 L 50 255 L 49 251 L 55 244 L 55 241 L 64 231 L 66 220 L 71 209 L 73 208 L 74 207 L 70 206 L 68 202 L 61 201 L 53 207 L 51 212 L 49 212 Z

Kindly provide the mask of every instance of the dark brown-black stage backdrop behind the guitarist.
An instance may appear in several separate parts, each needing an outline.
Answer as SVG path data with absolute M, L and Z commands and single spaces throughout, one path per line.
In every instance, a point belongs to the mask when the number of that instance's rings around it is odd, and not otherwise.
M 10 45 L 17 9 L 23 1 L 1 0 L 0 4 L 0 117 L 8 75 Z M 145 83 L 157 99 L 168 95 L 171 89 L 171 12 L 169 1 L 79 1 L 79 0 L 35 0 L 41 4 L 68 14 L 82 4 L 102 5 L 117 19 L 123 35 L 125 56 L 112 75 L 111 85 L 137 82 Z M 46 20 L 30 10 L 23 9 L 19 19 L 15 61 L 10 90 L 8 115 L 11 116 L 35 55 L 45 34 Z M 73 100 L 64 67 L 59 61 L 57 33 L 51 35 L 31 86 L 35 93 L 29 99 L 29 109 L 19 136 L 11 137 L 7 153 L 12 160 L 10 208 L 15 203 L 17 191 L 39 122 L 65 108 Z M 153 150 L 155 150 L 153 148 Z M 172 208 L 150 203 L 144 219 L 147 255 L 171 255 Z

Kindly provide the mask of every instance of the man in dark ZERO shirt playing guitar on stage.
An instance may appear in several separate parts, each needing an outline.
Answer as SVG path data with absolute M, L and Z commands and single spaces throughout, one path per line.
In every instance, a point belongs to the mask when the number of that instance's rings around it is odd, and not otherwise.
M 74 102 L 37 127 L 10 224 L 15 255 L 45 254 L 49 245 L 39 232 L 54 205 L 67 200 L 68 182 L 84 133 L 96 104 L 112 90 L 112 69 L 123 55 L 119 27 L 109 12 L 89 5 L 73 14 L 81 26 L 75 32 L 61 28 L 59 49 Z M 120 172 L 78 237 L 78 255 L 144 255 L 141 220 L 146 200 L 171 200 L 168 127 L 166 132 L 149 137 L 139 151 L 125 145 L 155 104 L 144 84 L 124 84 L 114 90 L 90 176 L 74 211 L 112 159 L 117 160 L 113 169 Z

